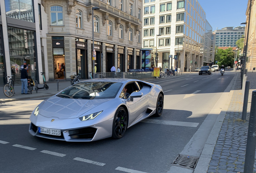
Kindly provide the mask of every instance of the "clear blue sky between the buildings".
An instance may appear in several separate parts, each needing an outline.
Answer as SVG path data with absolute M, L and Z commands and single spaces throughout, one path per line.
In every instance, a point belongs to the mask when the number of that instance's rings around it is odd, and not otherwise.
M 206 19 L 213 27 L 245 26 L 248 0 L 197 0 L 206 13 Z

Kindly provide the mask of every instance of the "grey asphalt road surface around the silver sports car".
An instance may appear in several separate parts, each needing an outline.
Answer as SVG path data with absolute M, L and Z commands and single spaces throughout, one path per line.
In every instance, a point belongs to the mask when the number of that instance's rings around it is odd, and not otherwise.
M 134 125 L 119 140 L 69 143 L 33 137 L 29 116 L 42 100 L 2 103 L 0 172 L 166 173 L 234 76 L 212 72 L 151 80 L 165 92 L 163 115 Z

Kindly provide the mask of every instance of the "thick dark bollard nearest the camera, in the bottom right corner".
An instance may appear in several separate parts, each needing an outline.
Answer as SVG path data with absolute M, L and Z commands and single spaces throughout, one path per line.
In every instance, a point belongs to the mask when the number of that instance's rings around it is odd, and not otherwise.
M 255 146 L 256 146 L 255 134 L 256 134 L 256 91 L 252 91 L 252 105 L 251 105 L 249 127 L 248 127 L 244 173 L 253 172 Z

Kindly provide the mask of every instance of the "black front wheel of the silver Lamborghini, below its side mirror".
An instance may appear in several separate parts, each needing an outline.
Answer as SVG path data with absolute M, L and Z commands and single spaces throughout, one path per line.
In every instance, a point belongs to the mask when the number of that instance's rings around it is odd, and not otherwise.
M 128 127 L 128 115 L 124 107 L 119 107 L 116 111 L 113 126 L 112 126 L 112 138 L 120 139 L 124 136 Z

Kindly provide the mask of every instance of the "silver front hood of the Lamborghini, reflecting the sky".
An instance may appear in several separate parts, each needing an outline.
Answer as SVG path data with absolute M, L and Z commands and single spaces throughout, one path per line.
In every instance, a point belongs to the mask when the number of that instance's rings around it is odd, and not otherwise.
M 53 96 L 44 101 L 42 105 L 39 105 L 39 115 L 47 118 L 57 117 L 59 119 L 77 118 L 109 100 L 111 99 L 82 100 Z

